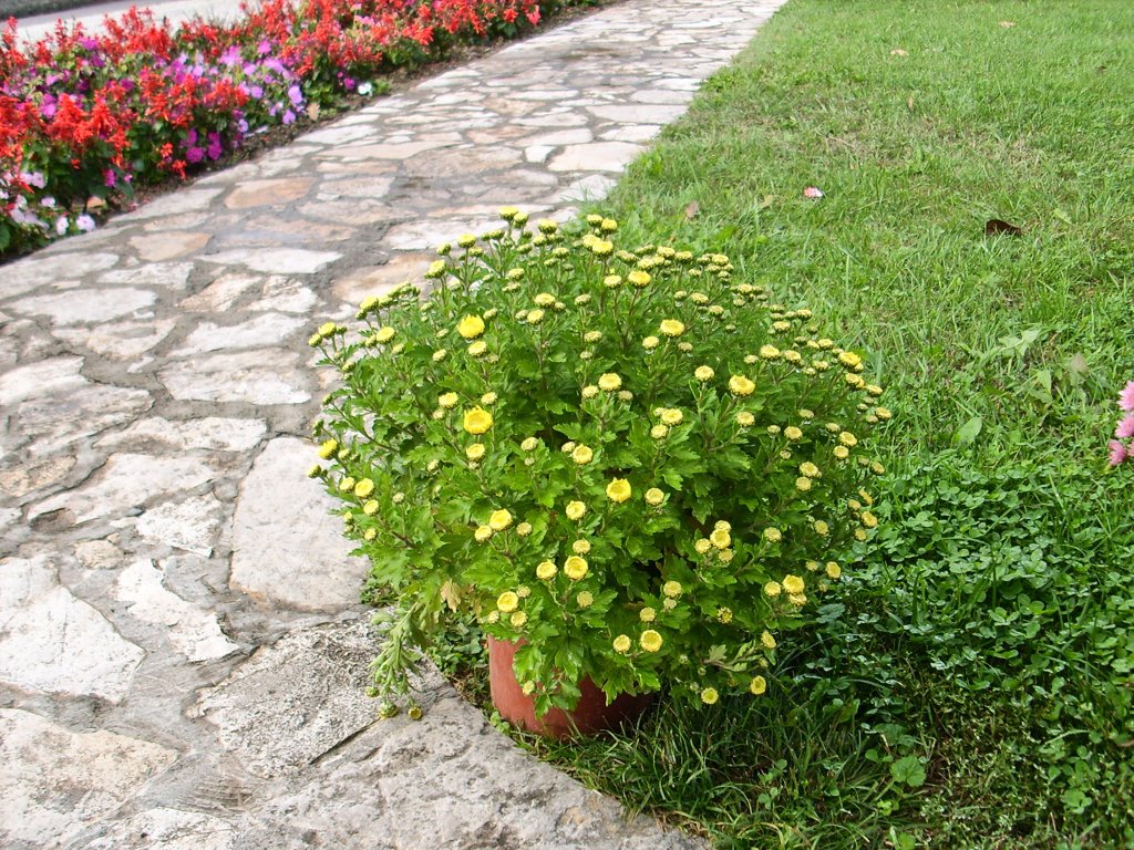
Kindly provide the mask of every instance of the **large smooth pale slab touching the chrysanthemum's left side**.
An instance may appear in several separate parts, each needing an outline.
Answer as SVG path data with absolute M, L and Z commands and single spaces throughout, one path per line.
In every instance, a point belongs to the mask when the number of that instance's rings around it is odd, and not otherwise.
M 340 611 L 358 601 L 366 562 L 328 512 L 336 507 L 307 477 L 314 447 L 272 440 L 240 485 L 232 520 L 230 584 L 253 598 L 297 611 Z

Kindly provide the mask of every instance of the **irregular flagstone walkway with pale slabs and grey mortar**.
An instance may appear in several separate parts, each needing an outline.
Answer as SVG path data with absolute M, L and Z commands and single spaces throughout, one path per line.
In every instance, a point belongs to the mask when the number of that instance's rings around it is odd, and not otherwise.
M 628 0 L 0 266 L 0 845 L 697 845 L 439 678 L 375 723 L 306 339 L 601 196 L 781 2 Z

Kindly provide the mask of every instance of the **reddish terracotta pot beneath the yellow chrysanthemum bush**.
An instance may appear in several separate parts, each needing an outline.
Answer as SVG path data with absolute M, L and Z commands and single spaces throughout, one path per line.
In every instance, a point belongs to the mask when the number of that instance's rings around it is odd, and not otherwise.
M 513 725 L 548 738 L 567 738 L 572 734 L 594 734 L 632 722 L 644 712 L 653 697 L 650 694 L 623 694 L 607 705 L 607 696 L 590 679 L 579 682 L 578 705 L 573 712 L 552 708 L 542 717 L 535 716 L 535 700 L 524 694 L 516 681 L 513 660 L 523 645 L 489 637 L 489 687 L 492 705 L 500 716 Z

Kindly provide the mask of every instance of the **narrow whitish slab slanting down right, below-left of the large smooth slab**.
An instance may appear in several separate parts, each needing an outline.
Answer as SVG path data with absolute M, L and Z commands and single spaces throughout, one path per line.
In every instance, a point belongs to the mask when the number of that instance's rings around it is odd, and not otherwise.
M 240 648 L 221 631 L 215 614 L 167 590 L 163 577 L 152 561 L 136 561 L 119 573 L 115 596 L 134 617 L 164 627 L 166 637 L 189 662 L 223 658 Z

